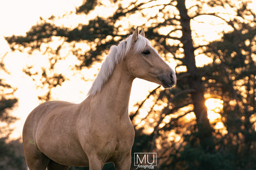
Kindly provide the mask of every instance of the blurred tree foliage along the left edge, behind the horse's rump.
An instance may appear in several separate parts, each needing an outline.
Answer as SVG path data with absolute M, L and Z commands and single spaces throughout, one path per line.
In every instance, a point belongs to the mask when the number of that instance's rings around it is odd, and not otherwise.
M 7 71 L 2 62 L 0 68 Z M 0 79 L 0 169 L 24 168 L 21 142 L 17 140 L 7 143 L 7 139 L 12 132 L 10 125 L 17 120 L 16 117 L 10 115 L 10 111 L 18 101 L 13 95 L 15 90 L 3 79 Z

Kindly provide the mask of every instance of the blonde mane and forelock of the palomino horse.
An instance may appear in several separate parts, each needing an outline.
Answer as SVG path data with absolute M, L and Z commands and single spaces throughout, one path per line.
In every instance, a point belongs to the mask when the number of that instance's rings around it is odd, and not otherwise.
M 113 45 L 110 48 L 109 55 L 107 55 L 104 63 L 101 66 L 99 74 L 93 81 L 88 95 L 95 95 L 102 89 L 106 81 L 109 80 L 110 76 L 112 75 L 115 65 L 122 61 L 130 50 L 133 50 L 134 53 L 139 53 L 146 47 L 147 44 L 150 45 L 149 40 L 142 35 L 139 35 L 134 47 L 132 47 L 132 35 L 130 35 L 125 40 L 122 40 L 117 46 Z

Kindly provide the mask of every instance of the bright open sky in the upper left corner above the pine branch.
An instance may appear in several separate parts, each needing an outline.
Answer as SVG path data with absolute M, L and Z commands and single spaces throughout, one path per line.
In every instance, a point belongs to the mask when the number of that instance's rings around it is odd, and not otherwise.
M 82 0 L 0 1 L 0 35 L 25 35 L 40 17 L 62 16 L 81 4 Z

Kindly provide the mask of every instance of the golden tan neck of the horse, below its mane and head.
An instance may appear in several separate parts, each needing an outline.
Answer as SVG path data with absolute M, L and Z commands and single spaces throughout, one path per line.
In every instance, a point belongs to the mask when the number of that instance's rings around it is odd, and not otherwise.
M 110 114 L 126 114 L 133 80 L 122 63 L 117 64 L 102 89 L 97 94 L 89 96 L 91 103 L 104 108 L 105 111 L 111 111 Z

